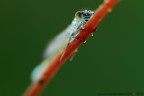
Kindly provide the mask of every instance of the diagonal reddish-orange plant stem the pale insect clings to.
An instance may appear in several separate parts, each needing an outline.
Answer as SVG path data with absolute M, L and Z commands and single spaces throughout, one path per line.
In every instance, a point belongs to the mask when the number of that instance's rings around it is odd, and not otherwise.
M 32 82 L 29 88 L 26 90 L 23 96 L 38 96 L 44 86 L 50 81 L 52 76 L 60 68 L 69 56 L 80 46 L 83 41 L 93 32 L 95 26 L 101 21 L 101 19 L 111 10 L 119 0 L 104 0 L 104 3 L 95 11 L 94 15 L 86 23 L 84 30 L 80 31 L 77 39 L 73 40 L 66 49 L 66 52 L 60 61 L 63 51 L 61 51 L 54 60 L 47 66 L 47 70 L 43 72 L 41 79 L 38 82 Z

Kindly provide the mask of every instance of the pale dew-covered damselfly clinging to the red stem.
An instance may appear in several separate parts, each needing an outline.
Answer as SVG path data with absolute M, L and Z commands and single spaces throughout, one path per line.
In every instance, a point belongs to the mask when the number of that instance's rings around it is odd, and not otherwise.
M 44 53 L 44 61 L 38 65 L 32 72 L 32 81 L 39 81 L 42 73 L 49 66 L 49 63 L 54 57 L 61 51 L 65 50 L 68 44 L 76 39 L 76 36 L 80 33 L 81 29 L 84 29 L 86 22 L 94 14 L 91 10 L 77 11 L 72 23 L 59 35 L 57 35 L 48 45 Z M 65 51 L 63 55 L 65 54 Z M 61 58 L 63 58 L 63 55 Z

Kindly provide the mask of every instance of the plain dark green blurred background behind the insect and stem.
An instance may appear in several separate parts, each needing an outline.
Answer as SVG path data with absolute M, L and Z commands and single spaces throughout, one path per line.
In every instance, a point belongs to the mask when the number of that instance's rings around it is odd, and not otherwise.
M 1 0 L 0 96 L 20 96 L 55 35 L 81 9 L 102 0 Z M 144 1 L 122 0 L 41 96 L 100 96 L 144 91 Z M 101 95 L 102 96 L 102 95 Z

